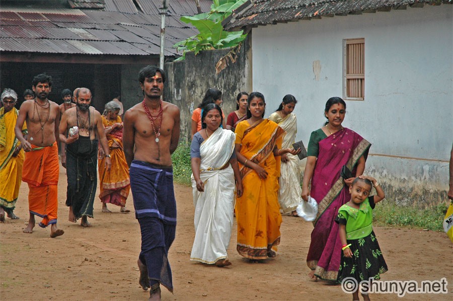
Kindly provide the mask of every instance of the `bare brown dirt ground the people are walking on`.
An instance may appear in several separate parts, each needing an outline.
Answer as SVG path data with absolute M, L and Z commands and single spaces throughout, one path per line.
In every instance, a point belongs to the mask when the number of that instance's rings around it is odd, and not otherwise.
M 175 185 L 178 204 L 176 239 L 169 252 L 174 294 L 167 300 L 350 300 L 339 285 L 313 282 L 307 276 L 306 256 L 313 225 L 298 217 L 283 216 L 277 257 L 249 263 L 236 252 L 236 223 L 225 268 L 189 260 L 193 244 L 193 203 L 190 187 Z M 49 238 L 50 229 L 22 230 L 28 220 L 28 187 L 22 183 L 15 213 L 19 220 L 0 224 L 0 299 L 2 300 L 145 300 L 138 285 L 137 256 L 140 231 L 131 213 L 101 212 L 95 199 L 91 228 L 67 220 L 64 205 L 66 173 L 60 168 L 58 226 L 64 235 Z M 99 194 L 99 187 L 98 187 Z M 37 222 L 40 218 L 37 217 Z M 444 233 L 375 227 L 389 271 L 382 280 L 448 281 L 447 294 L 406 294 L 404 300 L 451 300 L 453 249 Z M 374 300 L 394 300 L 396 294 L 372 294 Z

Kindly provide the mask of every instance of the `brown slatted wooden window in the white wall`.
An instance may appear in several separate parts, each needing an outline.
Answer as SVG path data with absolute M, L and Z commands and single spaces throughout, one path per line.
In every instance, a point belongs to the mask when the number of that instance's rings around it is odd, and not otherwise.
M 345 40 L 345 98 L 365 97 L 365 39 Z

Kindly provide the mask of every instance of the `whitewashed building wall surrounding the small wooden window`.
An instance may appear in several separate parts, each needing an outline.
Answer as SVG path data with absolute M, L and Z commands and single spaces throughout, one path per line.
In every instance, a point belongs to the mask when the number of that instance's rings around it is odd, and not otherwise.
M 453 142 L 453 6 L 323 17 L 254 28 L 253 90 L 266 116 L 285 94 L 299 101 L 308 144 L 324 106 L 343 97 L 343 39 L 365 39 L 365 100 L 346 101 L 344 126 L 372 143 L 365 173 L 403 203 L 446 199 Z M 314 62 L 321 70 L 315 77 Z

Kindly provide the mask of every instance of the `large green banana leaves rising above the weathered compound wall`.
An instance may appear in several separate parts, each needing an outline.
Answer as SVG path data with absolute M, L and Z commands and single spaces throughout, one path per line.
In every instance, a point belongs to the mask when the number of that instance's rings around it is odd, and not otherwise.
M 188 51 L 193 51 L 197 55 L 201 50 L 238 46 L 247 35 L 242 30 L 224 31 L 221 23 L 245 2 L 246 0 L 214 0 L 209 13 L 181 17 L 182 22 L 195 26 L 199 34 L 173 45 L 178 51 L 183 52 L 176 61 L 185 59 Z

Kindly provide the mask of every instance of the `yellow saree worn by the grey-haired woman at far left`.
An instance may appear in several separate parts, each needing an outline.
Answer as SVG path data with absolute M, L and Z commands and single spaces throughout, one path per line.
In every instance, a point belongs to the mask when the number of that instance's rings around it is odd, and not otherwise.
M 14 134 L 19 111 L 13 108 L 5 113 L 5 108 L 0 108 L 0 205 L 6 210 L 16 207 L 19 188 L 22 181 L 22 166 L 24 164 L 24 151 L 21 149 L 16 157 L 14 150 L 20 144 Z M 23 134 L 27 134 L 27 125 L 24 122 Z

